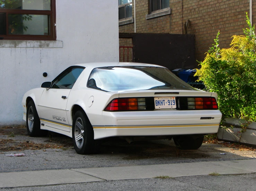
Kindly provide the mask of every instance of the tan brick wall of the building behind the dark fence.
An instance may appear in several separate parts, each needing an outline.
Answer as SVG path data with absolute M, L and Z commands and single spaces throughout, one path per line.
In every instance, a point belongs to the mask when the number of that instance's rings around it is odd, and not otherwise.
M 249 0 L 170 0 L 171 14 L 146 19 L 148 2 L 136 0 L 136 32 L 182 34 L 182 23 L 189 19 L 187 33 L 195 34 L 198 61 L 204 59 L 219 30 L 220 48 L 228 48 L 232 35 L 242 35 L 242 29 L 248 27 L 245 16 L 246 12 L 249 14 Z M 256 2 L 253 1 L 253 23 L 255 15 Z M 119 32 L 134 32 L 134 23 L 120 26 Z M 129 40 L 120 40 L 120 46 L 127 46 L 125 44 L 131 43 Z

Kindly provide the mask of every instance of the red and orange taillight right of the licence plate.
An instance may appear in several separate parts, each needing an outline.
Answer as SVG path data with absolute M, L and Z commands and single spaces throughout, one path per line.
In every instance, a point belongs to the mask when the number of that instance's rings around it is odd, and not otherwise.
M 215 98 L 187 98 L 187 109 L 218 109 Z

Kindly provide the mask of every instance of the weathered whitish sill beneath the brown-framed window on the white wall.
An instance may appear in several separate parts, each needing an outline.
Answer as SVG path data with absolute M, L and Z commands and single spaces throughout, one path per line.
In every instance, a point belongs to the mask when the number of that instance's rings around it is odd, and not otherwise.
M 0 40 L 0 48 L 63 48 L 61 40 Z

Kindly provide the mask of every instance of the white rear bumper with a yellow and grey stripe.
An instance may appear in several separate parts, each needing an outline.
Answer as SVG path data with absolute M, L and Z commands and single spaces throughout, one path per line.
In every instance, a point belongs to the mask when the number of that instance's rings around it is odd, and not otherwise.
M 116 136 L 165 136 L 217 133 L 219 110 L 103 112 L 102 125 L 92 125 L 94 139 Z M 201 119 L 211 117 L 213 119 Z

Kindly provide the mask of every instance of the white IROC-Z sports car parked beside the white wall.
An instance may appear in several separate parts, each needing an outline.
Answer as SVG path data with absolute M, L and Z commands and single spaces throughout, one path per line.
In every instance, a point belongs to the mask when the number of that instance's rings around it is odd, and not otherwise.
M 221 120 L 217 94 L 189 86 L 165 67 L 143 63 L 85 63 L 24 94 L 23 119 L 30 136 L 46 130 L 72 138 L 79 154 L 99 140 L 121 137 L 174 139 L 198 149 Z

